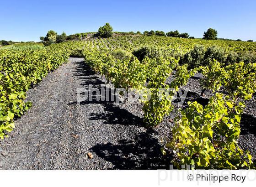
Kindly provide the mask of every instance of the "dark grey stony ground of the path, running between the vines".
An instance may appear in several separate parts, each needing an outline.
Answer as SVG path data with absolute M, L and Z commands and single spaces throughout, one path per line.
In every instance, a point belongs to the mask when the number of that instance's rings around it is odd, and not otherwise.
M 212 93 L 201 97 L 200 74 L 183 91 L 187 101 L 207 104 Z M 77 104 L 77 88 L 101 88 L 106 81 L 70 58 L 27 92 L 32 108 L 17 119 L 10 138 L 0 141 L 0 169 L 158 169 L 168 168 L 170 157 L 160 147 L 171 138 L 177 110 L 154 129 L 143 127 L 139 102 L 107 101 Z M 178 104 L 175 104 L 178 107 Z M 256 159 L 256 99 L 247 102 L 242 116 L 240 145 Z

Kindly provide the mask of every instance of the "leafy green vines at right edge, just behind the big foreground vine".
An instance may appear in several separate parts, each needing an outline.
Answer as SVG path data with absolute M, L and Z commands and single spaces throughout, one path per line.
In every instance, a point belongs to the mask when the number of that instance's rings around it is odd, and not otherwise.
M 249 100 L 256 92 L 256 63 L 244 62 L 224 66 L 213 61 L 207 67 L 202 67 L 204 78 L 202 86 L 213 91 L 224 87 L 234 100 Z

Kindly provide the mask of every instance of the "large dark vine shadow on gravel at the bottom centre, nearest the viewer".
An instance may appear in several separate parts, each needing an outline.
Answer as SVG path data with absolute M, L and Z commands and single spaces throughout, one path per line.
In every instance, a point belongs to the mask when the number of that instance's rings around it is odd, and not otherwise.
M 171 158 L 162 155 L 153 132 L 143 132 L 134 141 L 119 140 L 117 145 L 97 144 L 91 151 L 112 162 L 113 169 L 169 169 Z

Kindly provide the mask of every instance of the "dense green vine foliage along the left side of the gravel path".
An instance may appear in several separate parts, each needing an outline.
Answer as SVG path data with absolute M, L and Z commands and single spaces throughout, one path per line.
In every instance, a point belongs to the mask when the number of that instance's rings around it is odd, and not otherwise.
M 15 128 L 13 119 L 20 117 L 31 103 L 24 102 L 26 91 L 49 71 L 66 62 L 69 54 L 60 48 L 10 48 L 0 50 L 0 138 Z

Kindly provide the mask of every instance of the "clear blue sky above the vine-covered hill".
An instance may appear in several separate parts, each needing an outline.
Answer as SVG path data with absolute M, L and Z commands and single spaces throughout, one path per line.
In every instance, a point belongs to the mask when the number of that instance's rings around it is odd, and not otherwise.
M 48 30 L 162 30 L 256 41 L 256 0 L 1 0 L 0 40 L 39 41 Z

